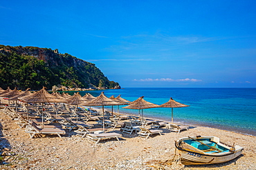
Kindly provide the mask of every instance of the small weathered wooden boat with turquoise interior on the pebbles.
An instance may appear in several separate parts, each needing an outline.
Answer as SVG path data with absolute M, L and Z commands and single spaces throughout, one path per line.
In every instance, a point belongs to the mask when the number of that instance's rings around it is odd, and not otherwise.
M 219 164 L 228 162 L 241 155 L 242 147 L 230 146 L 219 141 L 215 136 L 185 137 L 175 141 L 179 149 L 181 163 L 188 164 Z

